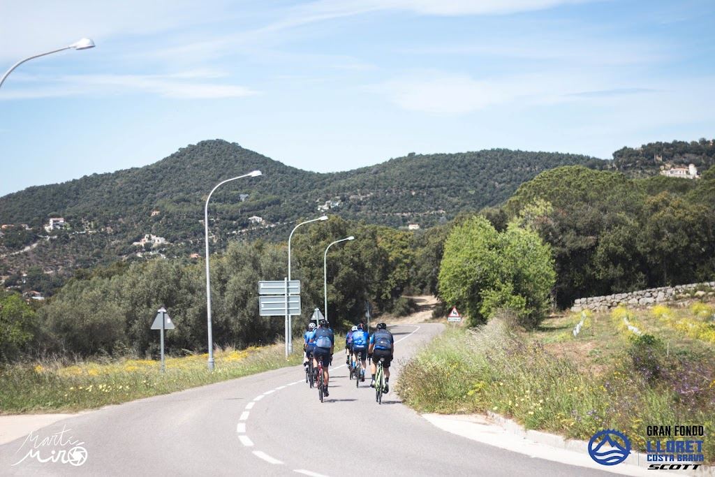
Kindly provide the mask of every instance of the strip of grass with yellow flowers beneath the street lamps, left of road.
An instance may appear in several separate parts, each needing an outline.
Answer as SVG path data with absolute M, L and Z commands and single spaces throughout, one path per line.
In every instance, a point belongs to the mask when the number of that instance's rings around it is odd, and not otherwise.
M 295 343 L 294 349 L 302 346 Z M 207 357 L 167 358 L 166 373 L 159 372 L 158 361 L 127 358 L 6 366 L 0 368 L 0 414 L 99 408 L 302 363 L 298 352 L 286 360 L 282 344 L 217 351 L 213 373 Z

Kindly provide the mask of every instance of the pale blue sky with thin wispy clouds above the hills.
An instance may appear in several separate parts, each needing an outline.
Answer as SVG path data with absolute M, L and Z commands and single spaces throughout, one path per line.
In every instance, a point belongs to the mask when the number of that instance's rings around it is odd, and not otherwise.
M 0 4 L 0 195 L 227 139 L 301 169 L 715 137 L 715 3 Z M 243 171 L 237 171 L 243 172 Z

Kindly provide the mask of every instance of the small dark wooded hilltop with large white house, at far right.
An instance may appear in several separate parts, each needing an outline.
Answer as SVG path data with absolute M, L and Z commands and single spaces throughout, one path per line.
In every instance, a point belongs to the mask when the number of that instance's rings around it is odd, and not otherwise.
M 705 171 L 715 165 L 715 140 L 651 142 L 613 152 L 613 166 L 631 176 L 658 174 L 663 168 L 687 167 Z

